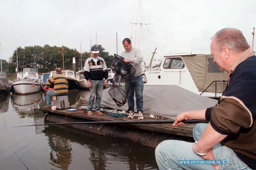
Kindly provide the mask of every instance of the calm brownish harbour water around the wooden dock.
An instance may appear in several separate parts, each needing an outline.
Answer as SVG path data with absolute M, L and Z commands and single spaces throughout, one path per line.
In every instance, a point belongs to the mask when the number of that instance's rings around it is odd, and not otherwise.
M 70 107 L 87 106 L 90 92 L 68 94 Z M 43 94 L 0 96 L 0 169 L 157 169 L 155 149 L 81 131 L 41 124 Z

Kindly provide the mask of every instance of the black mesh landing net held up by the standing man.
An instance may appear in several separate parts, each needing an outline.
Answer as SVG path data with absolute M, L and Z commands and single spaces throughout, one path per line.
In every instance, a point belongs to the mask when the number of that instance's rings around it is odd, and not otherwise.
M 130 63 L 125 63 L 123 57 L 114 55 L 115 58 L 111 62 L 111 69 L 114 71 L 115 76 L 112 79 L 112 87 L 108 90 L 108 93 L 117 106 L 120 107 L 127 102 L 127 95 L 132 86 L 132 79 L 136 69 Z

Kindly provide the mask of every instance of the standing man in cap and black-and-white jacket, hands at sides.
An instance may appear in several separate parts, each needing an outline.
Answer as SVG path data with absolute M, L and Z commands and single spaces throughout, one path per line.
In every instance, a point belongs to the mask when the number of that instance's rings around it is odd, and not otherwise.
M 99 49 L 97 46 L 92 46 L 92 56 L 84 63 L 84 78 L 87 80 L 88 87 L 90 88 L 90 97 L 88 101 L 88 116 L 92 116 L 92 107 L 96 96 L 96 115 L 103 115 L 100 112 L 100 102 L 103 87 L 107 86 L 108 68 L 103 58 L 98 56 Z M 105 78 L 105 80 L 103 80 Z

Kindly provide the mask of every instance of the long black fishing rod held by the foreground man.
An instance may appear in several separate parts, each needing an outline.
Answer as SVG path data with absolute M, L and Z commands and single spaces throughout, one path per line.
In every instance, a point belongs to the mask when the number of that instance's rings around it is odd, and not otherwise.
M 143 120 L 143 121 L 103 121 L 103 122 L 69 122 L 69 123 L 52 123 L 52 124 L 34 124 L 26 126 L 41 126 L 41 125 L 54 125 L 54 124 L 173 124 L 175 120 Z M 208 120 L 183 120 L 184 124 L 197 124 L 197 123 L 209 123 Z M 16 127 L 26 127 L 26 126 L 16 126 Z M 16 128 L 12 127 L 12 128 Z

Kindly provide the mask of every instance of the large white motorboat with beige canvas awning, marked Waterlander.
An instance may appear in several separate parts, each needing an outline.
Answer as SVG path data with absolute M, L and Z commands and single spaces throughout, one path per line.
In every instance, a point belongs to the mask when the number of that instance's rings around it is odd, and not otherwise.
M 198 95 L 218 98 L 228 81 L 228 73 L 213 62 L 213 55 L 164 56 L 158 69 L 144 71 L 145 85 L 177 85 Z

